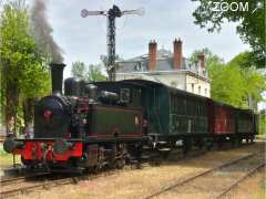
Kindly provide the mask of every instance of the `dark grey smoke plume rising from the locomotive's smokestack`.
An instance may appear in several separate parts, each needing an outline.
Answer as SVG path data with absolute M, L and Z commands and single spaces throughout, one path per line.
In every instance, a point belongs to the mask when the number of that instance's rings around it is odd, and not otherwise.
M 52 55 L 52 62 L 62 63 L 62 50 L 55 43 L 52 36 L 53 29 L 47 18 L 48 0 L 34 0 L 31 10 L 32 34 L 41 51 Z

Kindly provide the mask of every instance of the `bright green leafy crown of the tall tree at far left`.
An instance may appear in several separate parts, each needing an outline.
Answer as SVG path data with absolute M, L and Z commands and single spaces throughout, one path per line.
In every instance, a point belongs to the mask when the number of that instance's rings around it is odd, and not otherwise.
M 34 40 L 29 34 L 29 14 L 23 1 L 4 6 L 0 24 L 0 55 L 2 86 L 14 82 L 27 97 L 47 94 L 49 72 L 43 67 L 43 56 L 37 53 Z

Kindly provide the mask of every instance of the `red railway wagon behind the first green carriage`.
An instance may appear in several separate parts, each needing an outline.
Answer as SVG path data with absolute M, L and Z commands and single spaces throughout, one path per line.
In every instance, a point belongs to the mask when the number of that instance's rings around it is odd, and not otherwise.
M 215 135 L 235 134 L 235 111 L 226 104 L 208 101 L 208 132 Z

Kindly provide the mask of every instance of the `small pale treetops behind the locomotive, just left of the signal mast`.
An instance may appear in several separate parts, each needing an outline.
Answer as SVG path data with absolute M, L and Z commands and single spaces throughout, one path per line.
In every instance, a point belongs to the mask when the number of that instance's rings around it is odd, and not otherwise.
M 105 81 L 106 77 L 101 72 L 102 65 L 89 65 L 86 66 L 83 62 L 74 62 L 72 63 L 71 73 L 74 77 L 80 80 L 95 82 L 95 81 Z

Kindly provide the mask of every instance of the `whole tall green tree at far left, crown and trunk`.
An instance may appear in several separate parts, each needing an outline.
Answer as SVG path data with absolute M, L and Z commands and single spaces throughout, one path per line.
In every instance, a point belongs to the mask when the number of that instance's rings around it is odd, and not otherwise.
M 50 86 L 49 72 L 43 67 L 43 57 L 38 55 L 29 29 L 24 1 L 4 3 L 0 18 L 0 72 L 1 107 L 6 115 L 7 133 L 16 132 L 21 104 L 28 98 L 43 95 Z M 33 111 L 29 119 L 32 121 L 32 117 Z

